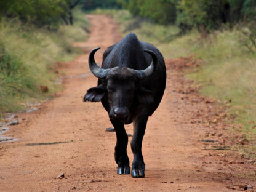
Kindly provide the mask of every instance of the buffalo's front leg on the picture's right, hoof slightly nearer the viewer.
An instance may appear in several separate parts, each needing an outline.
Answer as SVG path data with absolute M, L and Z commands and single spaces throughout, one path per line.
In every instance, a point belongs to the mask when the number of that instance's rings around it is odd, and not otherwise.
M 142 156 L 142 140 L 145 134 L 147 121 L 148 116 L 140 116 L 134 119 L 134 136 L 130 142 L 132 153 L 134 153 L 132 177 L 145 177 L 145 163 Z

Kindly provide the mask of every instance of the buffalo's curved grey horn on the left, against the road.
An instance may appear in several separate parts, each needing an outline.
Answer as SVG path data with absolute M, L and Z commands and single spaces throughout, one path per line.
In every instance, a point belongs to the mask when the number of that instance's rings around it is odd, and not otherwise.
M 89 58 L 88 58 L 89 68 L 90 68 L 90 71 L 92 71 L 92 74 L 94 74 L 94 76 L 96 76 L 99 79 L 105 79 L 110 69 L 100 68 L 95 62 L 94 54 L 95 52 L 97 52 L 98 49 L 100 49 L 100 47 L 93 49 L 89 54 Z

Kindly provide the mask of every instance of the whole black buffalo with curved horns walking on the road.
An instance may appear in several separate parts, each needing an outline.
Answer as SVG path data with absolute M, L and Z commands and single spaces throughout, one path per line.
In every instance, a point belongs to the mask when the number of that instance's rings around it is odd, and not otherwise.
M 102 68 L 89 55 L 90 71 L 98 78 L 98 86 L 87 90 L 84 102 L 102 102 L 116 131 L 114 158 L 118 174 L 130 174 L 127 156 L 128 137 L 124 124 L 134 124 L 130 142 L 134 161 L 132 177 L 145 177 L 142 140 L 148 116 L 158 108 L 166 87 L 166 66 L 161 52 L 152 44 L 139 41 L 134 33 L 108 47 Z

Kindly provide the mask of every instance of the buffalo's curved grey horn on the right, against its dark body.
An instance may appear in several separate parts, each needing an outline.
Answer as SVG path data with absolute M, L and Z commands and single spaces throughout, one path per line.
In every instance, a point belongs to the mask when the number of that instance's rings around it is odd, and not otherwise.
M 158 63 L 158 57 L 156 57 L 156 54 L 154 54 L 152 50 L 144 49 L 143 51 L 151 55 L 152 62 L 150 63 L 150 66 L 145 68 L 145 70 L 134 70 L 135 75 L 140 79 L 144 79 L 153 74 L 155 68 L 154 65 Z

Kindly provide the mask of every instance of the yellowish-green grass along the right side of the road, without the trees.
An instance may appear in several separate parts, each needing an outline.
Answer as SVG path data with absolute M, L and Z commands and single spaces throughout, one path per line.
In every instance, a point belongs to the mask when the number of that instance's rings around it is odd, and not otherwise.
M 158 47 L 165 58 L 190 54 L 200 58 L 201 66 L 186 71 L 186 77 L 196 81 L 194 86 L 200 87 L 201 94 L 215 98 L 220 105 L 228 105 L 227 113 L 236 116 L 233 123 L 242 125 L 242 129 L 231 132 L 246 134 L 251 144 L 237 146 L 238 150 L 256 157 L 256 54 L 245 46 L 248 39 L 239 28 L 213 31 L 204 37 L 197 30 L 175 36 L 179 32 L 176 26 L 154 25 L 132 17 L 125 10 L 115 10 L 112 16 L 119 22 L 123 36 L 136 33 L 142 41 Z

